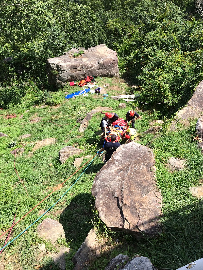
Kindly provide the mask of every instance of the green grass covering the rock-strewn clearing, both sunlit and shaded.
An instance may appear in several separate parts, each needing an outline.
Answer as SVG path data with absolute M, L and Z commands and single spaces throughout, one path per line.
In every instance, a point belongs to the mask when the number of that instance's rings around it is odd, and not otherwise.
M 98 84 L 109 83 L 110 86 L 119 88 L 119 82 L 110 78 L 98 78 Z M 127 89 L 127 85 L 124 85 Z M 106 88 L 110 95 L 115 95 Z M 124 233 L 111 232 L 99 220 L 98 213 L 94 207 L 94 198 L 91 196 L 91 187 L 96 173 L 102 167 L 101 158 L 95 158 L 91 166 L 86 170 L 78 182 L 44 217 L 34 224 L 27 233 L 16 239 L 9 245 L 0 259 L 4 258 L 6 269 L 34 269 L 36 265 L 41 269 L 57 269 L 50 258 L 41 260 L 39 263 L 32 245 L 45 243 L 47 251 L 54 252 L 60 246 L 68 246 L 74 251 L 80 247 L 87 236 L 89 230 L 94 226 L 100 238 L 108 238 L 108 243 L 113 249 L 103 251 L 101 258 L 98 258 L 92 265 L 91 270 L 104 269 L 111 258 L 122 253 L 129 257 L 136 254 L 147 256 L 158 268 L 176 269 L 188 262 L 203 257 L 202 249 L 202 200 L 197 200 L 189 193 L 189 187 L 198 185 L 203 178 L 202 164 L 203 157 L 197 149 L 197 143 L 192 140 L 195 134 L 195 121 L 191 122 L 191 127 L 184 129 L 179 126 L 178 132 L 168 131 L 169 120 L 163 125 L 161 136 L 152 140 L 153 135 L 142 135 L 142 132 L 149 128 L 149 122 L 157 119 L 158 112 L 142 112 L 135 107 L 136 104 L 127 104 L 126 109 L 118 109 L 121 101 L 110 98 L 103 99 L 102 96 L 89 94 L 88 97 L 76 97 L 76 99 L 65 100 L 64 92 L 75 92 L 78 88 L 66 86 L 58 92 L 52 92 L 54 104 L 61 104 L 54 108 L 50 105 L 41 108 L 40 99 L 30 93 L 24 97 L 21 104 L 8 106 L 2 114 L 17 114 L 16 118 L 4 119 L 0 116 L 0 131 L 8 137 L 0 138 L 0 230 L 7 230 L 11 225 L 16 213 L 16 221 L 25 215 L 32 207 L 43 200 L 50 193 L 49 188 L 56 186 L 66 180 L 76 171 L 73 166 L 75 157 L 70 157 L 65 164 L 61 165 L 58 158 L 58 151 L 67 145 L 75 146 L 84 150 L 77 157 L 91 155 L 100 149 L 98 135 L 100 131 L 100 121 L 102 115 L 97 113 L 92 117 L 88 128 L 84 133 L 79 133 L 79 117 L 85 116 L 87 112 L 99 106 L 112 107 L 119 117 L 125 118 L 129 109 L 135 109 L 142 120 L 135 122 L 135 127 L 140 134 L 140 143 L 148 144 L 152 149 L 156 159 L 157 185 L 163 197 L 162 218 L 163 233 L 156 239 L 143 239 L 138 241 Z M 130 89 L 128 89 L 130 91 Z M 122 93 L 123 89 L 120 88 Z M 25 111 L 29 110 L 25 113 Z M 22 118 L 18 116 L 23 114 Z M 75 115 L 77 114 L 77 115 Z M 42 117 L 41 122 L 31 123 L 29 120 L 34 117 Z M 58 125 L 57 126 L 54 122 Z M 66 125 L 69 124 L 70 125 Z M 70 130 L 77 125 L 70 133 Z M 17 156 L 15 166 L 19 177 L 27 188 L 26 191 L 21 184 L 14 170 L 15 156 L 10 153 L 16 147 L 8 148 L 10 138 L 19 137 L 22 134 L 32 134 L 31 137 L 18 142 L 18 147 L 24 147 L 22 156 Z M 191 136 L 192 135 L 192 136 Z M 45 146 L 36 150 L 32 157 L 28 157 L 35 141 L 45 138 L 56 138 L 56 144 Z M 34 143 L 34 144 L 33 144 Z M 170 173 L 165 164 L 168 157 L 180 157 L 187 159 L 187 167 L 179 172 Z M 86 163 L 88 159 L 84 159 Z M 51 165 L 50 165 L 51 164 Z M 84 166 L 86 168 L 86 166 Z M 63 185 L 63 189 L 55 191 L 50 197 L 43 201 L 29 215 L 20 221 L 12 230 L 9 240 L 16 237 L 25 230 L 39 216 L 40 210 L 47 210 L 56 200 L 70 187 L 80 176 L 78 171 L 73 177 L 68 179 Z M 48 241 L 39 239 L 36 228 L 46 217 L 54 218 L 61 222 L 66 234 L 66 240 L 58 241 L 54 247 Z M 119 242 L 116 243 L 116 239 Z M 0 239 L 1 247 L 5 237 Z M 73 255 L 72 254 L 72 255 Z M 67 256 L 67 269 L 72 268 L 71 256 Z

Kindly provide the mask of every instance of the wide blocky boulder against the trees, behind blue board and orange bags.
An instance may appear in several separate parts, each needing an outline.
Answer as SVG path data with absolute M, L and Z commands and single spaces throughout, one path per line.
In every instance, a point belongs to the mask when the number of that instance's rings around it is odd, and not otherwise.
M 119 77 L 117 52 L 104 44 L 84 50 L 84 54 L 77 58 L 73 53 L 72 49 L 65 55 L 47 59 L 46 70 L 51 85 L 61 88 L 66 82 L 81 80 L 87 75 Z

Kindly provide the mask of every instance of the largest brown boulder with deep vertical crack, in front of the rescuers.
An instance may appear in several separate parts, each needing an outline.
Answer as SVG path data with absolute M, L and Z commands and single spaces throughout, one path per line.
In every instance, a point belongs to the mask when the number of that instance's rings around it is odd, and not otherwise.
M 156 188 L 154 164 L 152 150 L 132 142 L 121 145 L 97 173 L 91 191 L 107 227 L 136 238 L 160 234 L 162 197 Z M 109 172 L 112 177 L 106 177 Z

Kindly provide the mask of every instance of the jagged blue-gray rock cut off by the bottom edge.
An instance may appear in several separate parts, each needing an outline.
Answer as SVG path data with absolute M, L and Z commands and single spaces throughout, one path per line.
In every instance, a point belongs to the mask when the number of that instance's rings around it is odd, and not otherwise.
M 120 255 L 121 254 L 119 254 L 117 257 L 119 257 Z M 125 256 L 125 255 L 121 255 L 121 256 Z M 124 269 L 125 270 L 156 270 L 156 268 L 151 264 L 150 259 L 148 259 L 147 257 L 140 257 L 137 255 L 137 256 L 134 256 L 132 258 L 132 260 L 130 260 L 130 261 L 127 261 L 124 263 L 121 262 L 118 266 L 116 265 L 116 261 L 119 260 L 119 258 L 117 258 L 117 259 L 116 258 L 111 260 L 111 261 L 115 260 L 115 263 L 112 264 L 111 267 L 109 267 L 109 264 L 108 264 L 107 267 L 105 268 L 105 270 L 114 270 L 114 269 L 118 269 L 118 270 L 124 270 Z M 120 258 L 122 258 L 122 257 L 120 257 Z M 123 265 L 122 265 L 122 263 L 123 263 Z M 119 268 L 117 268 L 117 267 L 119 267 Z

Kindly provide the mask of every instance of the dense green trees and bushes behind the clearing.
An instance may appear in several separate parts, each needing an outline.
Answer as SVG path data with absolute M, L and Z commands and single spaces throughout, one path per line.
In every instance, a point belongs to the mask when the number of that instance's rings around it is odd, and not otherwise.
M 191 0 L 4 0 L 0 16 L 3 92 L 21 89 L 21 80 L 46 86 L 47 58 L 100 43 L 117 50 L 120 73 L 141 86 L 140 100 L 164 102 L 159 110 L 183 106 L 203 78 L 203 22 Z

